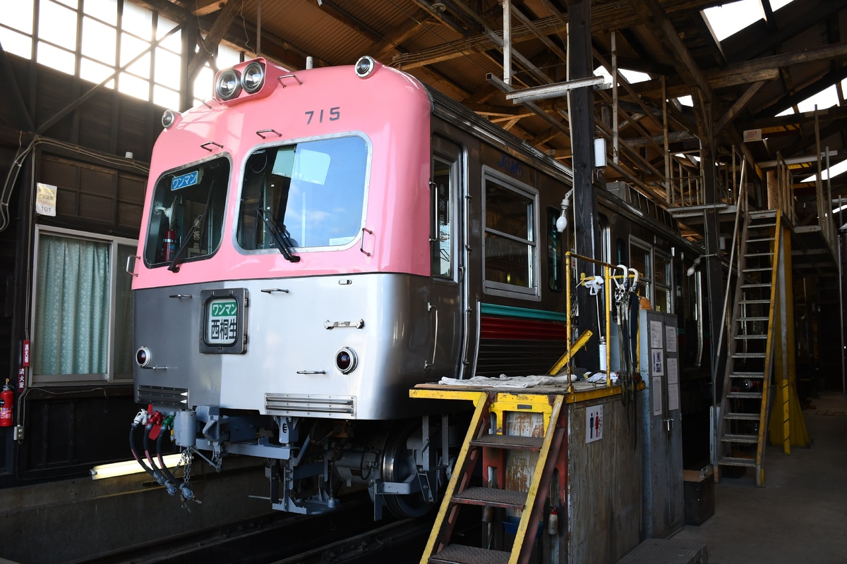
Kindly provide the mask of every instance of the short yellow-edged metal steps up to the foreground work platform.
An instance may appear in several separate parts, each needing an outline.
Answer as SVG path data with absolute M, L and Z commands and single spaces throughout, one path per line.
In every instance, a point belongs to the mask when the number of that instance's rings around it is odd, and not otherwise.
M 429 535 L 421 564 L 518 564 L 529 561 L 534 535 L 543 517 L 546 490 L 556 467 L 559 448 L 564 442 L 567 425 L 560 420 L 562 394 L 518 394 L 511 392 L 474 393 L 476 409 L 468 434 L 447 485 L 435 525 Z M 540 413 L 543 436 L 507 435 L 506 421 L 513 413 Z M 537 416 L 536 416 L 537 417 Z M 526 491 L 507 490 L 508 452 L 537 452 L 537 461 Z M 472 485 L 479 461 L 487 485 Z M 531 458 L 530 458 L 531 460 Z M 481 507 L 483 521 L 490 522 L 493 510 L 521 512 L 511 550 L 483 540 L 484 547 L 453 542 L 454 528 L 462 508 Z

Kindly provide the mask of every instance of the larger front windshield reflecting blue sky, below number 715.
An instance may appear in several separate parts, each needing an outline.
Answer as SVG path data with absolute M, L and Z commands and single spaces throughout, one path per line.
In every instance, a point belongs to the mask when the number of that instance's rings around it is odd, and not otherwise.
M 244 169 L 237 241 L 241 249 L 339 247 L 362 228 L 368 145 L 361 137 L 253 151 Z M 291 249 L 279 249 L 284 255 Z

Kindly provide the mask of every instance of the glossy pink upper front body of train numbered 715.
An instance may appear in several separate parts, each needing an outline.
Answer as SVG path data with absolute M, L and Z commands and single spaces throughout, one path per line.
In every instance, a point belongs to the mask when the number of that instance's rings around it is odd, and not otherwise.
M 356 272 L 429 276 L 430 101 L 424 86 L 379 63 L 365 79 L 357 77 L 352 66 L 298 71 L 293 73 L 296 78 L 273 63 L 268 62 L 267 68 L 266 84 L 257 95 L 251 98 L 242 92 L 234 101 L 208 101 L 211 108 L 201 105 L 185 112 L 159 136 L 147 183 L 139 257 L 144 255 L 153 187 L 162 173 L 227 154 L 232 172 L 224 234 L 213 255 L 185 261 L 176 273 L 167 266 L 148 268 L 141 258 L 136 259 L 133 289 Z M 330 108 L 338 108 L 338 119 L 329 119 Z M 313 112 L 311 123 L 307 123 L 307 112 Z M 265 133 L 263 140 L 256 132 L 265 129 L 282 135 Z M 362 227 L 373 233 L 360 228 L 358 237 L 344 249 L 304 249 L 298 252 L 302 260 L 297 263 L 280 253 L 239 249 L 234 235 L 236 204 L 246 156 L 259 145 L 346 132 L 364 134 L 372 151 Z M 209 141 L 223 149 L 208 145 L 210 152 L 201 147 Z

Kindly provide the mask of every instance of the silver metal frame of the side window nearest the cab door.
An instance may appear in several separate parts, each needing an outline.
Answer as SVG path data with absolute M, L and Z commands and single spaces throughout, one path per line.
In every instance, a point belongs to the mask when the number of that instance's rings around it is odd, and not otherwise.
M 507 189 L 512 191 L 518 196 L 526 198 L 530 200 L 532 205 L 532 213 L 529 216 L 529 219 L 532 221 L 532 225 L 527 226 L 528 235 L 531 237 L 529 239 L 520 239 L 515 236 L 509 235 L 507 233 L 502 233 L 499 230 L 495 230 L 494 228 L 490 228 L 488 226 L 488 198 L 486 197 L 487 185 L 489 182 L 494 182 L 502 189 Z M 529 184 L 518 182 L 515 178 L 508 177 L 501 172 L 496 171 L 493 168 L 484 166 L 482 168 L 482 227 L 483 227 L 483 237 L 482 237 L 482 279 L 483 279 L 483 292 L 493 296 L 503 296 L 508 298 L 519 298 L 519 299 L 527 299 L 533 301 L 540 301 L 540 248 L 539 248 L 539 225 L 540 225 L 540 211 L 539 211 L 539 194 L 538 190 L 529 186 Z M 529 275 L 532 278 L 529 286 L 523 287 L 518 286 L 516 284 L 508 284 L 504 282 L 494 282 L 488 280 L 485 277 L 486 271 L 486 262 L 487 262 L 487 245 L 485 235 L 487 233 L 494 233 L 497 236 L 507 235 L 508 238 L 516 241 L 520 241 L 522 243 L 526 243 L 529 247 L 532 248 L 532 256 L 529 258 Z

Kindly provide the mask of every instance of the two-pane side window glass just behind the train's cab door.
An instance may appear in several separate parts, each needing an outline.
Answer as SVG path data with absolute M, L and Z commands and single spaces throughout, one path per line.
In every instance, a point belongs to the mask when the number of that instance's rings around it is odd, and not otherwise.
M 494 178 L 484 194 L 486 292 L 537 296 L 535 195 Z

